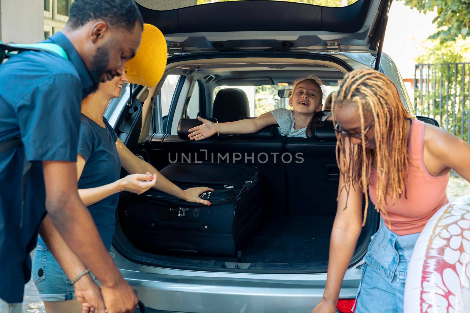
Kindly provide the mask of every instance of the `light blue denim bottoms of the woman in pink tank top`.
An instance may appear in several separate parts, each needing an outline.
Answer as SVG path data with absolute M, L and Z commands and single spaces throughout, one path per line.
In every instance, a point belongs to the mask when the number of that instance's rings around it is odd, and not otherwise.
M 356 313 L 401 313 L 408 262 L 420 233 L 399 236 L 380 219 L 362 265 Z M 354 309 L 354 308 L 353 308 Z

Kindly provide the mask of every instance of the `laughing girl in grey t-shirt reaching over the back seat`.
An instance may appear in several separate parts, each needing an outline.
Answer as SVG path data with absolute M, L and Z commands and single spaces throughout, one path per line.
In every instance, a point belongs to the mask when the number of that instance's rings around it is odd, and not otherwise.
M 191 128 L 188 135 L 191 140 L 201 140 L 217 133 L 249 134 L 257 132 L 268 125 L 278 124 L 278 134 L 288 137 L 312 137 L 313 127 L 321 126 L 324 121 L 321 111 L 323 90 L 320 78 L 307 76 L 293 83 L 286 108 L 275 109 L 259 115 L 255 119 L 246 119 L 228 123 L 213 123 L 204 118 L 197 119 L 204 124 Z

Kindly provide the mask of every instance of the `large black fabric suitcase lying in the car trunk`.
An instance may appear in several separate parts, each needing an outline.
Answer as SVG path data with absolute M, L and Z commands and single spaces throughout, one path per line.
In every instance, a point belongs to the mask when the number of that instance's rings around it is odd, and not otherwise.
M 189 203 L 155 189 L 134 195 L 127 206 L 127 237 L 145 252 L 235 257 L 261 220 L 262 190 L 257 168 L 220 163 L 173 163 L 160 173 L 181 189 L 207 186 Z

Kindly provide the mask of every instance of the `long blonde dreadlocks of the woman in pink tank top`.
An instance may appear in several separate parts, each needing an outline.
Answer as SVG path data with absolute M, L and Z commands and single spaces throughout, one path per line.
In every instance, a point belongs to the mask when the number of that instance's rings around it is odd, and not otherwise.
M 336 160 L 345 181 L 349 197 L 350 186 L 359 184 L 366 198 L 362 226 L 366 223 L 368 209 L 368 186 L 370 168 L 375 157 L 377 161 L 377 202 L 376 210 L 387 215 L 384 204 L 405 195 L 408 179 L 408 153 L 405 119 L 411 118 L 403 106 L 398 90 L 392 81 L 372 69 L 358 69 L 347 74 L 339 83 L 339 90 L 333 95 L 332 113 L 336 123 L 335 110 L 338 107 L 357 106 L 362 133 L 361 145 L 349 149 L 346 159 L 345 137 L 336 134 Z M 375 121 L 375 149 L 367 149 L 364 137 L 364 113 L 371 112 Z M 340 154 L 341 153 L 341 154 Z M 341 160 L 340 160 L 341 155 Z M 343 190 L 338 193 L 341 194 Z

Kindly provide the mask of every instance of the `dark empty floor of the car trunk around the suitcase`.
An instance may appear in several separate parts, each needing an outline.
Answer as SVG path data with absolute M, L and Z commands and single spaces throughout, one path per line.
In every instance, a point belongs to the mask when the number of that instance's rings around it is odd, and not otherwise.
M 237 257 L 198 255 L 139 249 L 142 242 L 129 242 L 126 238 L 125 207 L 120 206 L 113 245 L 127 259 L 158 267 L 247 273 L 323 273 L 328 267 L 333 221 L 334 216 L 265 216 L 251 243 Z M 376 211 L 369 210 L 351 266 L 367 251 L 377 221 Z

